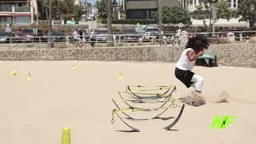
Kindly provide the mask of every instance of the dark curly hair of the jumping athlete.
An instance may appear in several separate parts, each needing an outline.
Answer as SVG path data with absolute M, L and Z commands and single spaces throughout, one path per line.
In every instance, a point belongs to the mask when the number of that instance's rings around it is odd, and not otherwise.
M 195 51 L 200 49 L 208 49 L 209 42 L 206 37 L 202 35 L 197 35 L 196 37 L 190 38 L 189 41 L 186 43 L 186 49 L 191 48 Z

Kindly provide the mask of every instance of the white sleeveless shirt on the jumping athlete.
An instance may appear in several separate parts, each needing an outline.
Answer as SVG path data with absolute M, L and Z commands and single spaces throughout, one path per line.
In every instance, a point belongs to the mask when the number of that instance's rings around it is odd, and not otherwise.
M 187 48 L 186 50 L 182 51 L 182 55 L 181 57 L 178 59 L 178 62 L 176 63 L 176 67 L 180 70 L 190 70 L 192 71 L 193 67 L 194 67 L 194 62 L 195 61 L 190 61 L 190 59 L 187 57 L 186 53 L 188 51 L 192 50 L 194 52 L 193 49 L 191 48 Z

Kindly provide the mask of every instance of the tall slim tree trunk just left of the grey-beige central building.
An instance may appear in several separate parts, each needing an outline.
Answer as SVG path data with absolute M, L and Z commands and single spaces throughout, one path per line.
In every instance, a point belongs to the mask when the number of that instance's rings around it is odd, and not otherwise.
M 112 0 L 107 1 L 107 43 L 108 46 L 114 46 L 113 32 L 112 32 Z

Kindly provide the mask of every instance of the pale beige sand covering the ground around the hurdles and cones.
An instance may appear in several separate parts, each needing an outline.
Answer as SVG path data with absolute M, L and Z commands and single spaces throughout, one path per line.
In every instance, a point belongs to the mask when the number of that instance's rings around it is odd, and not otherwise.
M 15 76 L 13 70 L 17 71 Z M 194 72 L 205 79 L 206 105 L 186 105 L 171 131 L 162 128 L 173 121 L 170 116 L 177 116 L 178 109 L 163 115 L 168 120 L 126 120 L 141 130 L 129 133 L 122 131 L 130 129 L 117 117 L 114 124 L 110 123 L 114 108 L 111 98 L 121 104 L 117 90 L 124 90 L 127 84 L 175 85 L 178 90 L 174 98 L 186 97 L 193 89 L 186 89 L 174 77 L 174 63 L 0 62 L 0 142 L 61 143 L 62 128 L 68 127 L 72 144 L 254 143 L 256 70 L 196 66 Z M 223 98 L 227 102 L 218 102 Z M 134 114 L 150 115 L 154 114 Z M 226 129 L 211 129 L 216 115 L 237 118 Z

